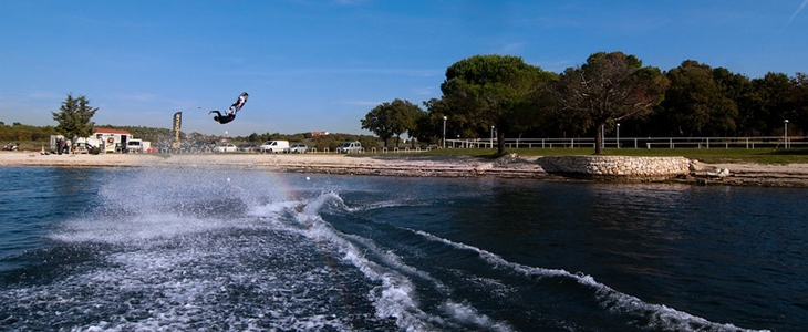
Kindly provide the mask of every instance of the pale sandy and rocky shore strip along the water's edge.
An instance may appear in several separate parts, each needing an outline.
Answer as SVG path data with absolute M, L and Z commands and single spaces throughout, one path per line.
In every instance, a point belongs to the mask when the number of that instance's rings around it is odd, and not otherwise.
M 459 149 L 458 149 L 459 151 Z M 468 151 L 466 151 L 468 153 Z M 549 153 L 548 155 L 555 155 Z M 581 155 L 584 155 L 581 153 Z M 510 154 L 500 158 L 490 155 L 463 154 L 64 154 L 43 155 L 33 152 L 2 152 L 0 166 L 55 167 L 170 167 L 203 169 L 259 169 L 288 173 L 406 177 L 498 177 L 547 180 L 632 181 L 621 177 L 581 178 L 547 172 L 538 155 Z M 686 156 L 687 157 L 687 156 Z M 801 157 L 801 156 L 800 156 Z M 662 183 L 694 185 L 738 185 L 808 188 L 808 163 L 763 164 L 734 159 L 736 163 L 712 163 L 691 159 L 691 169 Z M 709 158 L 708 158 L 709 159 Z M 755 160 L 753 158 L 752 160 Z M 800 163 L 801 162 L 801 163 Z M 722 169 L 728 173 L 719 174 Z

